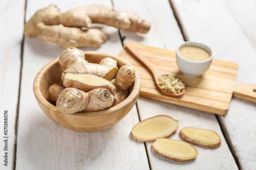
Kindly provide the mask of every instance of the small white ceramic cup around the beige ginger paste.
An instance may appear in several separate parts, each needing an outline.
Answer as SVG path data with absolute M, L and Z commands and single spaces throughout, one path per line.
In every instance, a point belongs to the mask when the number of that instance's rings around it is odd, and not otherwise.
M 209 52 L 211 57 L 204 61 L 191 61 L 191 60 L 185 59 L 179 54 L 180 48 L 185 47 L 185 46 L 196 46 L 196 47 L 203 48 Z M 186 42 L 180 44 L 176 49 L 177 65 L 178 65 L 180 71 L 185 76 L 190 77 L 190 78 L 197 78 L 197 77 L 200 77 L 202 74 L 204 74 L 204 72 L 206 72 L 209 69 L 209 67 L 211 65 L 211 61 L 213 59 L 213 56 L 214 56 L 213 50 L 208 45 L 206 45 L 204 43 L 186 41 Z

